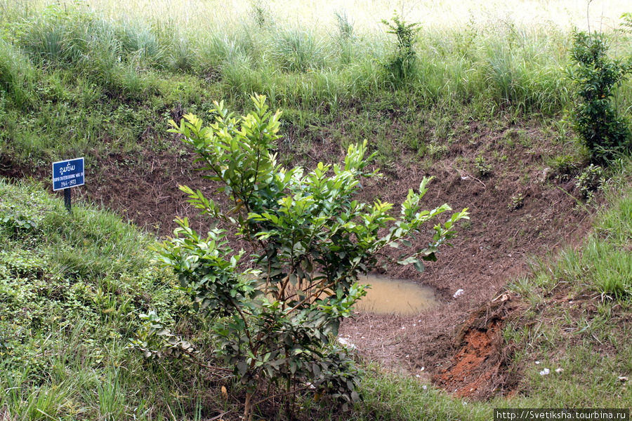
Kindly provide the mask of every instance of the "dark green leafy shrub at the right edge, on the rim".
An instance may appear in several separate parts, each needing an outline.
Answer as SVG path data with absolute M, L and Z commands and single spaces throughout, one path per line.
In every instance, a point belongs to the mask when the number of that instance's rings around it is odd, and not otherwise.
M 612 104 L 614 88 L 632 71 L 632 61 L 624 64 L 607 56 L 603 34 L 575 32 L 570 76 L 577 87 L 574 126 L 591 152 L 594 162 L 610 161 L 632 146 L 629 122 Z

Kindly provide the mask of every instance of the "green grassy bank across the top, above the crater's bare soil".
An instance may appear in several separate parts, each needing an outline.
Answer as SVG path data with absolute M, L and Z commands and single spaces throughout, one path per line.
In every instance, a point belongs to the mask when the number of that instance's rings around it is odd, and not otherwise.
M 20 166 L 108 148 L 135 151 L 147 128 L 164 131 L 181 110 L 204 112 L 217 98 L 240 109 L 254 92 L 283 108 L 284 124 L 299 130 L 335 126 L 348 110 L 368 133 L 379 126 L 362 120 L 371 112 L 412 116 L 406 123 L 417 132 L 420 116 L 433 113 L 559 119 L 572 104 L 570 30 L 586 29 L 587 8 L 549 3 L 299 8 L 233 1 L 218 8 L 198 0 L 173 9 L 164 1 L 4 0 L 0 154 L 4 165 Z M 421 23 L 416 60 L 403 80 L 388 70 L 397 40 L 381 23 L 393 11 Z M 612 55 L 630 55 L 629 34 L 615 31 L 626 2 L 593 1 L 588 11 L 592 29 L 612 35 Z M 617 106 L 632 107 L 630 81 L 619 88 Z

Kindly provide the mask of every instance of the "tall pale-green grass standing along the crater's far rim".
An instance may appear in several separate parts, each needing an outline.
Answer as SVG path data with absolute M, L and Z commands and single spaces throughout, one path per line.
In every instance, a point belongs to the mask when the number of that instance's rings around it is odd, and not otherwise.
M 370 100 L 394 89 L 412 93 L 426 106 L 475 102 L 480 108 L 513 107 L 548 115 L 560 112 L 570 101 L 569 82 L 562 72 L 567 65 L 568 31 L 552 22 L 525 23 L 506 17 L 494 21 L 494 16 L 501 16 L 497 12 L 489 20 L 470 18 L 466 25 L 428 23 L 417 36 L 414 74 L 400 87 L 393 86 L 378 65 L 396 48 L 395 39 L 377 26 L 384 15 L 374 16 L 374 25 L 369 25 L 366 11 L 359 7 L 334 9 L 327 17 L 306 22 L 310 10 L 295 20 L 281 13 L 272 19 L 272 11 L 235 2 L 225 15 L 203 8 L 202 16 L 208 20 L 201 22 L 190 11 L 162 18 L 154 12 L 164 5 L 152 4 L 150 11 L 141 11 L 141 3 L 126 3 L 124 10 L 121 4 L 101 1 L 88 1 L 79 8 L 50 6 L 44 13 L 28 15 L 18 25 L 18 36 L 8 39 L 36 65 L 74 66 L 126 95 L 147 92 L 147 86 L 129 73 L 133 69 L 141 76 L 152 70 L 212 75 L 211 80 L 222 80 L 231 95 L 268 93 L 286 107 L 312 107 L 323 100 L 336 104 Z M 196 4 L 190 0 L 191 6 Z M 240 19 L 236 11 L 243 8 L 249 13 Z M 120 14 L 113 15 L 115 10 Z M 567 18 L 577 23 L 577 13 L 574 8 Z M 408 14 L 416 15 L 414 9 Z M 11 27 L 8 22 L 4 25 Z M 628 43 L 621 39 L 620 44 Z M 626 50 L 619 48 L 624 54 L 629 53 Z M 624 106 L 632 103 L 627 98 L 630 84 L 621 88 Z

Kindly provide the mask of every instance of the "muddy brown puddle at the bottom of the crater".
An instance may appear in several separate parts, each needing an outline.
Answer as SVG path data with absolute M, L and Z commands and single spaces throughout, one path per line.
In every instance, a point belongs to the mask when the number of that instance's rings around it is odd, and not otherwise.
M 367 295 L 355 304 L 359 312 L 412 315 L 439 304 L 433 288 L 405 279 L 386 276 L 361 276 L 359 283 L 368 283 Z

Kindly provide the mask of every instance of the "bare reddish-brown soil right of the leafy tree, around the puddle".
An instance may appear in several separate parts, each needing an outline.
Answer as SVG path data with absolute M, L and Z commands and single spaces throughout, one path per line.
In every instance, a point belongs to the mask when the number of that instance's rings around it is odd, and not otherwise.
M 483 398 L 503 386 L 498 337 L 503 319 L 482 330 L 470 330 L 464 343 L 454 341 L 459 326 L 482 303 L 499 295 L 509 281 L 527 274 L 529 258 L 548 255 L 584 236 L 591 219 L 586 212 L 574 210 L 573 196 L 578 195 L 572 182 L 547 180 L 542 160 L 549 153 L 546 138 L 536 126 L 523 129 L 529 148 L 502 145 L 506 131 L 487 131 L 479 143 L 463 136 L 430 169 L 422 170 L 414 162 L 400 163 L 397 174 L 371 187 L 382 200 L 398 203 L 423 175 L 434 175 L 435 184 L 426 196 L 428 205 L 447 202 L 454 209 L 468 207 L 471 220 L 461 225 L 459 237 L 452 241 L 454 247 L 444 248 L 439 261 L 428 265 L 423 274 L 405 267 L 389 271 L 390 276 L 433 286 L 443 305 L 419 316 L 362 314 L 343 324 L 341 335 L 362 356 L 424 382 L 432 379 L 463 396 Z M 476 130 L 480 130 L 478 125 L 473 127 Z M 473 159 L 481 153 L 494 168 L 489 178 L 473 175 Z M 510 204 L 517 194 L 525 199 L 515 209 Z M 454 298 L 459 289 L 463 294 Z M 496 356 L 487 354 L 489 350 Z M 482 367 L 475 369 L 467 361 Z

